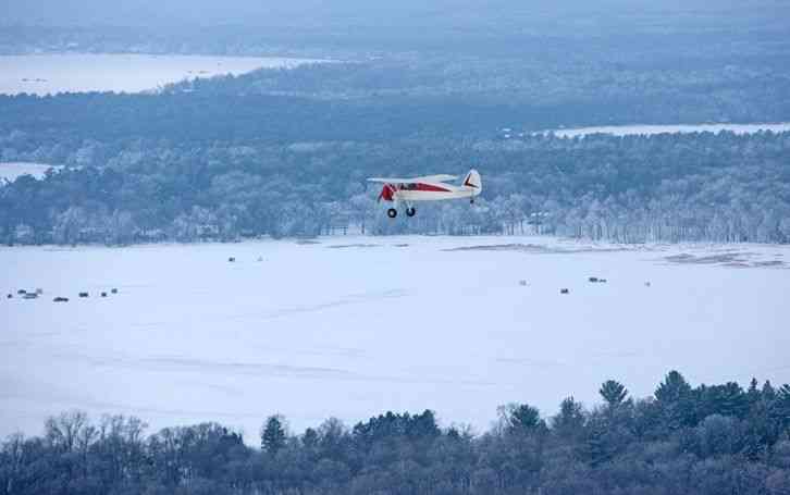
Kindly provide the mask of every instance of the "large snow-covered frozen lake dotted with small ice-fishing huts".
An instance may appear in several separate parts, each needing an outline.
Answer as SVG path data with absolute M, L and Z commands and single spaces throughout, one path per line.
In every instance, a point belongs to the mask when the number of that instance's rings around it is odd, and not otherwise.
M 73 408 L 149 431 L 214 420 L 249 443 L 272 413 L 300 432 L 431 408 L 481 432 L 506 403 L 594 406 L 610 378 L 637 397 L 671 369 L 786 383 L 786 260 L 545 237 L 0 248 L 0 434 Z

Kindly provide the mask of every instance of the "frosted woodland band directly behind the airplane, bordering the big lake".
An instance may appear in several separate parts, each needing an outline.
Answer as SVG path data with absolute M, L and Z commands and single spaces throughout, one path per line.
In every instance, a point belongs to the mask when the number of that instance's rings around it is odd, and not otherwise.
M 9 161 L 62 163 L 0 186 L 0 240 L 128 244 L 366 234 L 530 234 L 790 242 L 790 133 L 271 144 L 40 143 Z M 483 174 L 483 196 L 387 219 L 381 175 Z

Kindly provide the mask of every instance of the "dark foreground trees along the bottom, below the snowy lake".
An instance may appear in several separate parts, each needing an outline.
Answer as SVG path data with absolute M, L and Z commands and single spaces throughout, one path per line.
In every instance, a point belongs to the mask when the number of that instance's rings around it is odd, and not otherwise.
M 386 412 L 301 433 L 281 416 L 250 447 L 217 423 L 146 434 L 137 418 L 50 418 L 9 436 L 0 494 L 672 494 L 790 491 L 790 386 L 692 387 L 672 371 L 653 396 L 614 380 L 592 409 L 568 397 L 544 417 L 499 408 L 487 432 L 441 428 L 434 413 Z

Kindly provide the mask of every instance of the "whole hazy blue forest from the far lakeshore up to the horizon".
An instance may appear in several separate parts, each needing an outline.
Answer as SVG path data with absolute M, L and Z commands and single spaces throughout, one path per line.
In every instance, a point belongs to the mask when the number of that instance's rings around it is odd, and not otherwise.
M 147 94 L 0 96 L 0 162 L 59 168 L 0 184 L 3 244 L 358 232 L 790 242 L 789 133 L 536 135 L 790 121 L 782 2 L 295 0 L 261 12 L 245 0 L 219 9 L 229 24 L 205 26 L 169 24 L 184 2 L 45 3 L 40 23 L 25 21 L 35 5 L 4 5 L 0 52 L 330 62 Z M 366 183 L 471 166 L 484 183 L 474 207 L 420 206 L 412 222 L 386 219 Z

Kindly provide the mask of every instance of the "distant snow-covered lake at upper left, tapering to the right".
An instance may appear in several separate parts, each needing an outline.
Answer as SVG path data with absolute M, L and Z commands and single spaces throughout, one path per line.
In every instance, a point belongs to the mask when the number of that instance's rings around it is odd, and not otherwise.
M 47 95 L 65 91 L 156 89 L 169 83 L 261 67 L 295 67 L 321 60 L 147 54 L 55 53 L 0 57 L 0 94 Z

